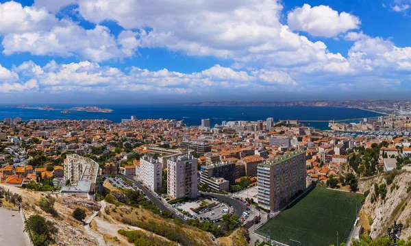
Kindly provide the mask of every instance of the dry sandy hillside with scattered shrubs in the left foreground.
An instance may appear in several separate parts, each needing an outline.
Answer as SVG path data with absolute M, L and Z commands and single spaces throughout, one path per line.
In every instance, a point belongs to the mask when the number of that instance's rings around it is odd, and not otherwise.
M 179 232 L 178 236 L 183 235 L 183 239 L 188 242 L 197 242 L 198 245 L 217 245 L 210 233 L 189 225 L 176 224 L 171 219 L 162 219 L 157 214 L 143 208 L 115 206 L 105 201 L 88 201 L 60 193 L 43 193 L 14 186 L 1 186 L 5 190 L 21 195 L 22 207 L 27 218 L 32 214 L 40 214 L 48 221 L 55 223 L 58 227 L 58 232 L 53 236 L 55 245 L 134 245 L 134 243 L 127 241 L 126 235 L 123 235 L 129 231 L 134 233 L 133 236 L 137 234 L 143 237 L 146 242 L 149 242 L 149 245 L 186 245 L 186 243 L 177 244 L 176 241 L 171 241 L 164 236 L 139 227 L 139 225 L 147 226 L 150 224 Z M 55 212 L 51 212 L 53 215 L 40 208 L 39 203 L 42 198 L 54 201 Z M 75 208 L 86 210 L 84 221 L 90 222 L 90 226 L 83 225 L 82 222 L 73 218 L 72 214 Z M 99 211 L 97 216 L 95 216 L 96 211 Z M 119 230 L 123 230 L 123 234 L 120 234 Z

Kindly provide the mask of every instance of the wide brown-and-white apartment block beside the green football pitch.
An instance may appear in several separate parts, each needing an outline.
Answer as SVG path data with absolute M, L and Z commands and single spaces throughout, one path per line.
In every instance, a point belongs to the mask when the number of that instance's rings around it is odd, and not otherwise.
M 258 164 L 258 205 L 278 211 L 306 189 L 306 152 L 293 151 Z

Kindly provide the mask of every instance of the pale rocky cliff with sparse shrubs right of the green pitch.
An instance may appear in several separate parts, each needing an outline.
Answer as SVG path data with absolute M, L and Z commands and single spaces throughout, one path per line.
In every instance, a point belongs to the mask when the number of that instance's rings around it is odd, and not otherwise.
M 383 173 L 360 180 L 359 188 L 369 193 L 360 210 L 365 234 L 369 232 L 372 238 L 385 236 L 394 221 L 411 225 L 410 172 Z M 408 236 L 411 236 L 410 227 L 403 231 L 403 238 Z

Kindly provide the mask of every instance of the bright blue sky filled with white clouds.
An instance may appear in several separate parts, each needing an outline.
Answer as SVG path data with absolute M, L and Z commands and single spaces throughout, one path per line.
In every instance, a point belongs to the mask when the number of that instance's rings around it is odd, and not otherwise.
M 0 3 L 0 103 L 411 95 L 411 0 Z

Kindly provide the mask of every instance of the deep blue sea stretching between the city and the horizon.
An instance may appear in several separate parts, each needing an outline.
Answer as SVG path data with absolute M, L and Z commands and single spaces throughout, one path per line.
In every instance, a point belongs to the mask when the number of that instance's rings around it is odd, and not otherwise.
M 38 105 L 29 105 L 38 106 Z M 42 105 L 44 106 L 44 105 Z M 182 106 L 182 105 L 49 105 L 59 110 L 36 110 L 25 108 L 10 108 L 0 105 L 0 120 L 4 118 L 21 117 L 23 121 L 30 119 L 108 119 L 120 123 L 121 119 L 175 119 L 184 120 L 186 125 L 201 125 L 201 119 L 210 119 L 210 125 L 221 124 L 223 121 L 265 121 L 271 117 L 274 121 L 298 119 L 299 121 L 330 121 L 338 119 L 367 118 L 381 114 L 356 108 L 334 107 L 237 107 L 237 106 Z M 111 108 L 113 112 L 77 112 L 62 114 L 60 111 L 75 106 L 97 106 Z M 358 122 L 358 121 L 352 121 Z M 309 127 L 329 130 L 327 122 L 305 122 Z

